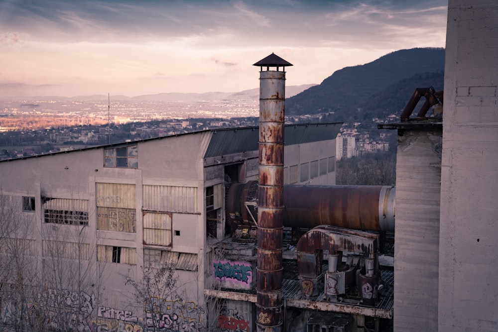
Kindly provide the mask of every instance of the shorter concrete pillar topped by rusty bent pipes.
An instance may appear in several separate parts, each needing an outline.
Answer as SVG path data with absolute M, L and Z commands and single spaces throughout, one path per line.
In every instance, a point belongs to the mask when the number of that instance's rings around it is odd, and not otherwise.
M 442 141 L 437 126 L 398 129 L 394 331 L 437 331 Z

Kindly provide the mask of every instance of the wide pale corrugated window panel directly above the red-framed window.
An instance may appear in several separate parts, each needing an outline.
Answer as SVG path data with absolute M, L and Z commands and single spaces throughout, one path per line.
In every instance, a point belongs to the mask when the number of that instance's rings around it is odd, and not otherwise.
M 143 186 L 143 208 L 164 212 L 197 213 L 197 188 Z

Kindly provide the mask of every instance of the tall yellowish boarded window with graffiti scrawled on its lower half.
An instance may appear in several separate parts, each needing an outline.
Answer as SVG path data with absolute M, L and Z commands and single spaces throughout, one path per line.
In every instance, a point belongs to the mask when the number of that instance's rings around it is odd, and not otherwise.
M 136 232 L 135 185 L 96 183 L 97 229 Z

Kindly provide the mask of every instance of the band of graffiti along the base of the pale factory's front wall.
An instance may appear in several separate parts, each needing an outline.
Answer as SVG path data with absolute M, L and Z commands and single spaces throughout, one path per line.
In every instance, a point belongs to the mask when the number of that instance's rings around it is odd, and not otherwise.
M 66 313 L 66 318 L 72 326 L 77 327 L 78 332 L 197 332 L 202 329 L 201 317 L 204 311 L 192 301 L 168 301 L 153 297 L 150 303 L 145 304 L 144 318 L 126 309 L 97 308 L 96 303 L 93 293 L 89 295 L 81 292 L 80 297 L 78 292 L 70 290 L 50 290 L 43 303 L 29 302 L 26 308 L 43 308 L 49 325 L 55 329 L 58 328 L 60 315 Z M 4 301 L 0 309 L 0 322 L 15 324 L 14 320 L 19 316 L 16 306 Z M 26 312 L 29 314 L 29 311 Z M 239 326 L 244 325 L 241 322 Z

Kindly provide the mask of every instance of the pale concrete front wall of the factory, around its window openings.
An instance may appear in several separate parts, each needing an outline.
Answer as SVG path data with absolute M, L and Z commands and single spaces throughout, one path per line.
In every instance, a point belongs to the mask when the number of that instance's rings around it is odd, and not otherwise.
M 29 229 L 32 231 L 27 234 L 27 237 L 36 240 L 38 257 L 42 257 L 43 240 L 53 238 L 55 235 L 59 241 L 77 242 L 81 234 L 81 242 L 90 245 L 91 259 L 84 261 L 82 265 L 86 268 L 88 264 L 92 269 L 90 273 L 92 277 L 89 277 L 91 280 L 87 280 L 92 286 L 86 287 L 84 293 L 89 298 L 98 297 L 98 302 L 89 302 L 87 308 L 90 314 L 88 324 L 92 324 L 96 331 L 111 331 L 111 328 L 118 326 L 119 331 L 136 331 L 134 329 L 142 329 L 149 324 L 145 320 L 143 303 L 138 306 L 134 305 L 131 296 L 133 289 L 129 285 L 124 285 L 124 275 L 129 274 L 138 280 L 142 274 L 140 268 L 143 265 L 144 247 L 141 213 L 142 185 L 197 188 L 198 203 L 195 213 L 171 213 L 173 229 L 180 232 L 179 236 L 173 233 L 171 249 L 197 254 L 198 271 L 177 271 L 180 276 L 178 286 L 182 286 L 180 288 L 182 300 L 171 301 L 172 311 L 163 314 L 171 317 L 177 315 L 178 322 L 180 319 L 183 320 L 182 322 L 185 320 L 197 322 L 203 315 L 198 308 L 204 305 L 204 273 L 201 271 L 204 271 L 203 252 L 206 237 L 203 212 L 205 210 L 204 166 L 200 157 L 200 135 L 180 135 L 167 139 L 140 141 L 137 144 L 138 168 L 136 169 L 103 167 L 103 147 L 0 162 L 1 191 L 16 196 L 15 199 L 19 203 L 21 196 L 35 197 L 35 212 L 21 212 L 20 205 L 19 212 L 30 219 Z M 190 148 L 185 149 L 185 146 Z M 134 195 L 128 191 L 121 194 L 129 198 L 132 208 L 136 211 L 136 232 L 97 229 L 96 183 L 135 186 Z M 45 223 L 42 208 L 43 197 L 88 200 L 88 225 L 82 227 Z M 133 248 L 136 263 L 96 264 L 97 245 Z M 37 264 L 38 270 L 43 272 L 41 261 Z M 97 270 L 97 266 L 103 267 L 101 272 Z M 36 269 L 36 266 L 32 268 Z M 71 289 L 73 285 L 69 280 L 67 285 L 56 286 L 67 287 L 68 291 L 73 290 Z M 185 287 L 185 294 L 183 294 L 183 287 Z M 128 314 L 126 317 L 119 318 L 118 311 L 127 311 Z M 182 313 L 187 311 L 190 316 L 185 317 Z M 57 315 L 58 312 L 53 314 Z M 137 323 L 137 319 L 143 320 Z M 159 324 L 163 317 L 151 319 Z M 83 326 L 79 328 L 83 329 Z

